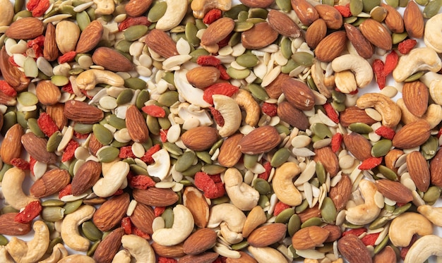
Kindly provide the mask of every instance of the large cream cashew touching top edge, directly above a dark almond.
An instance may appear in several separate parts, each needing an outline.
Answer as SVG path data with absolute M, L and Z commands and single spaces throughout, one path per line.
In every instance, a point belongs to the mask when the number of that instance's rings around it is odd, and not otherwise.
M 167 31 L 181 23 L 187 12 L 187 1 L 166 0 L 166 13 L 157 21 L 157 30 Z

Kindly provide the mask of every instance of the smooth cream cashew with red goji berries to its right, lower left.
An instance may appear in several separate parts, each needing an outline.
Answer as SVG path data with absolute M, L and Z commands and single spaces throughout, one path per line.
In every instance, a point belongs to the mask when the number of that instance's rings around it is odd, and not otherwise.
M 112 169 L 106 177 L 100 178 L 92 187 L 92 191 L 99 197 L 109 197 L 116 192 L 126 180 L 129 173 L 129 164 L 124 161 L 117 161 L 112 164 Z

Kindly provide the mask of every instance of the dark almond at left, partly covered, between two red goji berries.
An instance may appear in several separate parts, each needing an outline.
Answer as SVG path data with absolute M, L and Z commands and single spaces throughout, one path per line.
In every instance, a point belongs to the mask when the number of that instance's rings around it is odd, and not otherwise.
M 28 154 L 44 164 L 55 164 L 57 156 L 54 152 L 47 152 L 47 140 L 37 137 L 34 133 L 26 133 L 21 137 L 21 143 Z

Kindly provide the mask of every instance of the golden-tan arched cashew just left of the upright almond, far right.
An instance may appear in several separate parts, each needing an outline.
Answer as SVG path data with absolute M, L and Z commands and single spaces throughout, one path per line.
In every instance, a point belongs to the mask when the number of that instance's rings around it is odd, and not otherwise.
M 400 122 L 401 111 L 393 100 L 381 93 L 366 93 L 357 99 L 359 109 L 374 108 L 382 116 L 384 126 L 395 128 Z

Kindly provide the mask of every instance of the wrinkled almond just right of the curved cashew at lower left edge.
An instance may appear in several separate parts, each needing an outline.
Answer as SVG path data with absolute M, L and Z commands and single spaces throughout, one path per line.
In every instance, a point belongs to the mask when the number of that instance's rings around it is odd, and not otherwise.
M 42 198 L 54 195 L 71 182 L 71 175 L 65 169 L 52 169 L 43 174 L 30 187 L 33 197 Z

